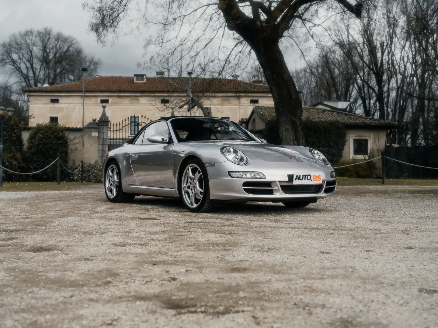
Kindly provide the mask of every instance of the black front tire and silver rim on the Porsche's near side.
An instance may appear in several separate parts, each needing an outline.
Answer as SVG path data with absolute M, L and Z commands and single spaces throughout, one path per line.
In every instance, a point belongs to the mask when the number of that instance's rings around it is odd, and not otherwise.
M 180 194 L 184 206 L 192 212 L 205 213 L 212 210 L 207 169 L 199 159 L 185 164 L 180 179 Z

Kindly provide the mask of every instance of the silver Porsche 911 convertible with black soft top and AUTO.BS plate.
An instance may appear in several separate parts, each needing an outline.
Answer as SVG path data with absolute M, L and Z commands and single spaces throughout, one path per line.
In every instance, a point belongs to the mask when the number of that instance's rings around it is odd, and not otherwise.
M 268 144 L 229 120 L 195 116 L 151 122 L 109 151 L 103 183 L 110 202 L 182 198 L 192 212 L 224 202 L 304 207 L 336 190 L 335 172 L 318 150 Z

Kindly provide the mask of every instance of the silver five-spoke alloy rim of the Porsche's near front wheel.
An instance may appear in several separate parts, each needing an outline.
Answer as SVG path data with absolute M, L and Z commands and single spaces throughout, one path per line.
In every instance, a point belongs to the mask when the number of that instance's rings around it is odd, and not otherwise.
M 182 178 L 182 192 L 187 206 L 198 207 L 204 196 L 204 178 L 198 165 L 190 164 L 186 167 Z

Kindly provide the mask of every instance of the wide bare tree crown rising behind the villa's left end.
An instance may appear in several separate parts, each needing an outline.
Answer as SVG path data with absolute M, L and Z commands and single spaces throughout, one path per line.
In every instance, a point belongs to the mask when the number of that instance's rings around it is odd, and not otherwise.
M 78 41 L 51 28 L 14 33 L 0 44 L 0 68 L 22 87 L 63 84 L 79 80 L 81 67 L 94 76 L 100 59 L 85 54 Z

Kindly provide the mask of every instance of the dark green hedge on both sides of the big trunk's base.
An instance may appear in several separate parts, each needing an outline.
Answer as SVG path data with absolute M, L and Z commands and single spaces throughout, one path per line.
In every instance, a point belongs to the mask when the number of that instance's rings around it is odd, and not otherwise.
M 303 133 L 307 147 L 321 151 L 331 164 L 342 158 L 346 143 L 346 132 L 339 122 L 303 122 Z M 281 144 L 280 133 L 276 121 L 268 122 L 262 137 L 276 145 Z

